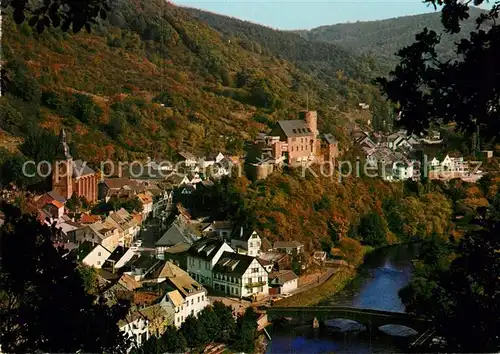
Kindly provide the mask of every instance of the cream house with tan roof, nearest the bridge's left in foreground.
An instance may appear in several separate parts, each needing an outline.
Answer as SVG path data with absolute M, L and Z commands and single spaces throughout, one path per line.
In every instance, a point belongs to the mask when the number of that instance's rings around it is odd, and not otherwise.
M 209 305 L 206 289 L 189 276 L 188 273 L 171 262 L 166 263 L 165 285 L 168 292 L 160 305 L 173 314 L 174 325 L 180 327 L 187 316 L 197 316 Z M 168 274 L 167 274 L 168 273 Z

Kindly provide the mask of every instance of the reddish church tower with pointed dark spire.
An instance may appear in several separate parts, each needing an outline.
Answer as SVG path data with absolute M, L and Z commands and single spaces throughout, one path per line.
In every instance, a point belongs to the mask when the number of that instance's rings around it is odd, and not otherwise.
M 52 164 L 52 190 L 66 199 L 73 195 L 73 158 L 69 153 L 64 128 L 59 134 L 56 158 Z

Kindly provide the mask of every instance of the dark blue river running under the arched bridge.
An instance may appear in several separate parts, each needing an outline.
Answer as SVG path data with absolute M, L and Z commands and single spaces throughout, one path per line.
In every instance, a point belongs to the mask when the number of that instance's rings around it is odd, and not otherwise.
M 352 306 L 404 312 L 399 290 L 408 284 L 417 245 L 398 245 L 367 255 L 359 276 L 339 294 L 322 305 Z M 400 351 L 391 338 L 376 328 L 359 335 L 331 335 L 313 331 L 310 326 L 271 328 L 272 341 L 267 353 L 385 353 Z

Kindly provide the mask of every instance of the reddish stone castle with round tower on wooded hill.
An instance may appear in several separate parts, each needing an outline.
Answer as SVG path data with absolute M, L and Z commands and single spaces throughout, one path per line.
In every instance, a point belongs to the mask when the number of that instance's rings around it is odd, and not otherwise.
M 283 165 L 300 166 L 309 162 L 333 161 L 339 154 L 332 134 L 318 132 L 318 113 L 301 111 L 296 120 L 280 120 L 270 133 L 260 133 L 247 163 L 257 179 L 266 178 Z

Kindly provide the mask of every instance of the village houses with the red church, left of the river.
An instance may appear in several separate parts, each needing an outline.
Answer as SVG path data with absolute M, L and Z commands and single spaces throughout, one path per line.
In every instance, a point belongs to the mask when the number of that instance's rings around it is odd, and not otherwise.
M 181 152 L 182 173 L 168 173 L 171 166 L 149 160 L 147 173 L 129 169 L 122 176 L 98 180 L 90 167 L 73 161 L 64 131 L 57 152 L 53 189 L 31 195 L 28 204 L 41 223 L 55 227 L 57 246 L 96 269 L 99 293 L 106 301 L 131 301 L 130 313 L 119 327 L 134 345 L 160 335 L 167 325 L 179 327 L 189 315 L 196 316 L 210 303 L 207 289 L 254 300 L 297 289 L 291 258 L 301 256 L 302 244 L 272 245 L 246 225 L 192 220 L 176 201 L 176 194 L 189 195 L 211 186 L 210 178 L 229 174 L 235 159 L 221 153 L 196 159 Z M 205 171 L 213 166 L 217 168 L 207 178 Z M 92 214 L 82 205 L 70 207 L 74 197 L 93 206 L 134 199 L 140 208 L 127 211 L 120 206 Z M 153 247 L 144 248 L 139 236 L 149 218 L 164 222 Z

